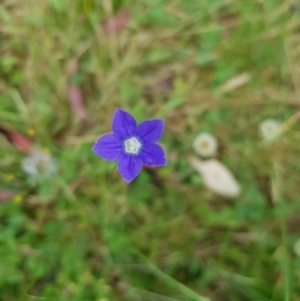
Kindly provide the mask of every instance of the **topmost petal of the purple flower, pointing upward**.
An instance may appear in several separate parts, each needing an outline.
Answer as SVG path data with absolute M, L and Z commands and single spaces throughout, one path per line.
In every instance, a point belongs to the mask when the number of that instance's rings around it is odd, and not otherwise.
M 112 122 L 112 129 L 117 138 L 128 138 L 135 134 L 136 121 L 131 114 L 117 108 Z

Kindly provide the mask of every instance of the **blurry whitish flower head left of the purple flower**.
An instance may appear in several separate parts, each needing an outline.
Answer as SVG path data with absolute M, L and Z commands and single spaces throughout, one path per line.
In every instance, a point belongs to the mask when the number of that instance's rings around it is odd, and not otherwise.
M 22 168 L 36 181 L 53 176 L 57 169 L 51 154 L 40 148 L 33 149 L 29 157 L 23 159 Z

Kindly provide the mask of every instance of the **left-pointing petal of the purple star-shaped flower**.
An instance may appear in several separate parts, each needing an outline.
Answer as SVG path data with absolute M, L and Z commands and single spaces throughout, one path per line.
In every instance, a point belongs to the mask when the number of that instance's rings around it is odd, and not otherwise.
M 105 160 L 114 161 L 122 152 L 122 144 L 115 135 L 106 134 L 96 141 L 92 151 Z

